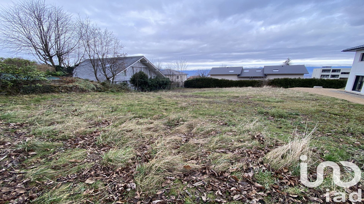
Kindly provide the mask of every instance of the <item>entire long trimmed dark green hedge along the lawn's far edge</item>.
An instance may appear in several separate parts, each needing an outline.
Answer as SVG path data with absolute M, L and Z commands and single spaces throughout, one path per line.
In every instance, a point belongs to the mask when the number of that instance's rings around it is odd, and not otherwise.
M 323 88 L 343 88 L 347 80 L 343 79 L 300 79 L 300 78 L 281 78 L 272 80 L 227 80 L 215 79 L 210 77 L 201 77 L 190 79 L 184 82 L 186 88 L 225 88 L 225 87 L 262 87 L 271 85 L 275 87 L 292 88 L 292 87 L 314 87 L 322 86 Z

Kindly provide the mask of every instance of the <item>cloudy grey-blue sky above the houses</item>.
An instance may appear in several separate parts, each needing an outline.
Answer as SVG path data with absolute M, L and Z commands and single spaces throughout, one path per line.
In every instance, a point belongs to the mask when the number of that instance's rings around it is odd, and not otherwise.
M 16 1 L 16 0 L 15 0 Z M 364 44 L 363 0 L 46 0 L 116 34 L 128 56 L 188 69 L 351 66 Z M 0 0 L 3 7 L 11 0 Z M 1 48 L 0 48 L 1 49 Z M 0 50 L 1 56 L 22 56 Z

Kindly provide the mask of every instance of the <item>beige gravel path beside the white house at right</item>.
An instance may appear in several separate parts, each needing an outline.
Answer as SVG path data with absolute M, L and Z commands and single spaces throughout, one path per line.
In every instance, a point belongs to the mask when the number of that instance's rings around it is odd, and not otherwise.
M 330 96 L 338 99 L 344 99 L 349 102 L 364 104 L 364 96 L 346 92 L 342 89 L 334 88 L 290 88 L 292 90 L 304 91 L 308 93 L 314 93 L 324 96 Z

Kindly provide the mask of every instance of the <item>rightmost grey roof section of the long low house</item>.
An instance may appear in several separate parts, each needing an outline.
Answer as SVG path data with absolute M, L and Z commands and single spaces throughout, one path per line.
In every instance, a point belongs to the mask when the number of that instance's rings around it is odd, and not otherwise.
M 265 74 L 308 74 L 304 65 L 264 66 Z

